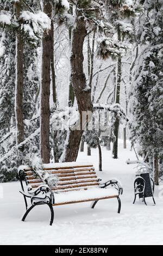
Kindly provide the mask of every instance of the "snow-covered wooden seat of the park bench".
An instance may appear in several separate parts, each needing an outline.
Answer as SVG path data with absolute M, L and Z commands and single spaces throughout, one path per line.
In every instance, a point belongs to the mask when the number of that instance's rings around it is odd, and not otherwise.
M 116 188 L 93 187 L 89 188 L 89 190 L 83 189 L 79 191 L 62 192 L 59 194 L 54 193 L 55 204 L 53 205 L 80 203 L 114 197 L 118 197 Z

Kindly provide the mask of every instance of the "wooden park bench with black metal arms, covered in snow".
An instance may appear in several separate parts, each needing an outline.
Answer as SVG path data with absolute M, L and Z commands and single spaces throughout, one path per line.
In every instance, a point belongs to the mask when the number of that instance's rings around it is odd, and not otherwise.
M 101 184 L 95 168 L 90 163 L 49 163 L 43 165 L 43 172 L 28 166 L 20 166 L 18 175 L 22 187 L 20 192 L 26 204 L 26 213 L 22 221 L 34 206 L 41 204 L 47 204 L 51 209 L 50 225 L 53 223 L 55 205 L 93 201 L 92 208 L 94 208 L 98 200 L 117 198 L 118 213 L 121 211 L 119 196 L 123 190 L 120 183 L 109 180 Z M 26 189 L 24 182 L 27 185 Z M 29 206 L 27 198 L 30 198 Z

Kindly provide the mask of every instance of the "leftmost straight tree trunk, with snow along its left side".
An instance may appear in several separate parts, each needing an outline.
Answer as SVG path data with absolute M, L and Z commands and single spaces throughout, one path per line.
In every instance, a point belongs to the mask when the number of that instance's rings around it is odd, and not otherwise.
M 15 3 L 17 16 L 21 13 L 21 1 Z M 23 38 L 20 32 L 16 34 L 16 83 L 15 83 L 15 117 L 16 144 L 24 140 L 23 123 Z

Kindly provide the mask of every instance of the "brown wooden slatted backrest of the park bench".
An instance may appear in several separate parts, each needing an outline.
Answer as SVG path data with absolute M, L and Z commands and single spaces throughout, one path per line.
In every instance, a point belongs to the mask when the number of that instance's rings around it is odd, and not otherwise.
M 47 167 L 43 170 L 57 176 L 57 186 L 52 187 L 54 193 L 86 190 L 89 187 L 99 186 L 99 179 L 92 164 L 76 165 L 75 167 L 69 164 L 67 167 L 65 165 L 64 167 Z M 26 176 L 26 184 L 32 188 L 45 184 L 39 176 L 36 176 L 33 169 L 24 168 L 23 172 Z

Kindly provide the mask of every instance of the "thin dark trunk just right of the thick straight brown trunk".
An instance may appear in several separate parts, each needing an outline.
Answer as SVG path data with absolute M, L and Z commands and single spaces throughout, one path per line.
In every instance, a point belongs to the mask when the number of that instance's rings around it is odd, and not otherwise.
M 51 36 L 52 36 L 52 56 L 51 56 L 51 70 L 52 70 L 52 89 L 53 89 L 53 103 L 57 106 L 57 93 L 55 83 L 55 62 L 54 62 L 54 23 L 51 22 Z

